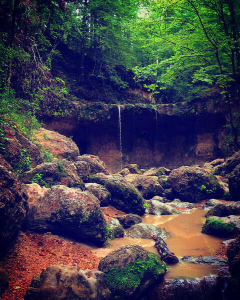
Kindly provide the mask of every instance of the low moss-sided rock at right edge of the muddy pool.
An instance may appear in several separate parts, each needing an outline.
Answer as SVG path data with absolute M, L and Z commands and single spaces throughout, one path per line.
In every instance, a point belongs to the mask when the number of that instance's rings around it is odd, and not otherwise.
M 230 237 L 240 233 L 240 219 L 236 215 L 207 216 L 202 233 Z

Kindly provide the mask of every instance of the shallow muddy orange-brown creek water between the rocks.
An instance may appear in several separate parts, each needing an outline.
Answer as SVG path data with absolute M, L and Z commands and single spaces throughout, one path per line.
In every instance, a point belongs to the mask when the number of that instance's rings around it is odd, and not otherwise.
M 167 247 L 179 258 L 184 255 L 211 255 L 221 246 L 222 238 L 201 233 L 206 210 L 195 209 L 191 213 L 177 215 L 151 215 L 144 214 L 142 223 L 153 224 L 165 228 L 170 237 L 165 239 Z M 106 248 L 91 247 L 97 256 L 105 256 L 120 245 L 137 243 L 145 249 L 157 253 L 152 239 L 138 238 L 115 238 L 110 240 Z M 169 265 L 168 272 L 164 278 L 195 278 L 208 274 L 214 274 L 218 268 L 211 265 L 200 265 L 190 262 L 178 262 Z

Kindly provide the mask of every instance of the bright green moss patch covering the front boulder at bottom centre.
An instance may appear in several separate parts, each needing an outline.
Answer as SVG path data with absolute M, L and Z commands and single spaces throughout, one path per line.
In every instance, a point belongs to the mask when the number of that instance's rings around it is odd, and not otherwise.
M 135 259 L 133 263 L 129 263 L 122 269 L 110 268 L 104 272 L 104 281 L 111 288 L 115 286 L 131 288 L 138 286 L 144 276 L 157 278 L 164 270 L 166 265 L 150 253 L 145 260 Z

